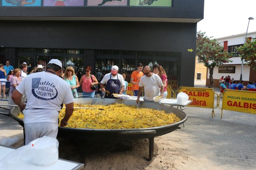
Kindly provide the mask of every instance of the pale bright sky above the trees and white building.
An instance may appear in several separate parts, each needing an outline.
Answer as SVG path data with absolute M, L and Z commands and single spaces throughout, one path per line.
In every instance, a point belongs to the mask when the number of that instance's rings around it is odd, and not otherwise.
M 197 23 L 197 31 L 214 39 L 256 32 L 256 0 L 204 0 L 204 19 Z

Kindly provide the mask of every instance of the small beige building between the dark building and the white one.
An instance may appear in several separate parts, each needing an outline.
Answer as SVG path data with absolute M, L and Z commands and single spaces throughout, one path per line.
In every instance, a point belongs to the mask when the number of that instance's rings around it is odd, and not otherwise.
M 194 69 L 194 85 L 205 85 L 207 77 L 207 67 L 204 66 L 204 63 L 201 63 L 198 60 L 198 57 L 195 57 L 195 69 Z

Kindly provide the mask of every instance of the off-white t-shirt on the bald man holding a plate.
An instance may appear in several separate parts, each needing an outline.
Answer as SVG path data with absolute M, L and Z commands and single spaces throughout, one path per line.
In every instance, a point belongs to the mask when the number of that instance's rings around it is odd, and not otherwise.
M 159 87 L 163 86 L 163 82 L 161 78 L 156 74 L 153 74 L 150 77 L 147 77 L 144 75 L 140 79 L 139 86 L 140 87 L 144 86 L 144 92 L 145 92 L 144 98 L 146 100 L 153 101 L 153 98 L 155 96 L 160 95 Z

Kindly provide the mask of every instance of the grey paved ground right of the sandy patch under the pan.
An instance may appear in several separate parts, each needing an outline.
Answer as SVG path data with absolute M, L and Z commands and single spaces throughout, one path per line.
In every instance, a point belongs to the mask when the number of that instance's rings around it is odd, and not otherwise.
M 170 140 L 178 138 L 188 149 L 188 155 L 211 162 L 215 167 L 204 169 L 256 169 L 256 115 L 198 107 L 186 107 L 185 128 L 164 135 Z M 194 169 L 194 168 L 190 168 Z

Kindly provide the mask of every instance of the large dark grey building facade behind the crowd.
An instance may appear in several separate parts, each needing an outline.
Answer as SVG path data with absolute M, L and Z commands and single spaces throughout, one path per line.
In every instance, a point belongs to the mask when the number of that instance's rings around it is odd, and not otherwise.
M 194 86 L 196 29 L 204 0 L 0 2 L 1 63 L 45 66 L 57 58 L 74 66 L 78 77 L 86 66 L 108 73 L 117 65 L 128 81 L 137 63 L 157 63 L 173 89 Z

